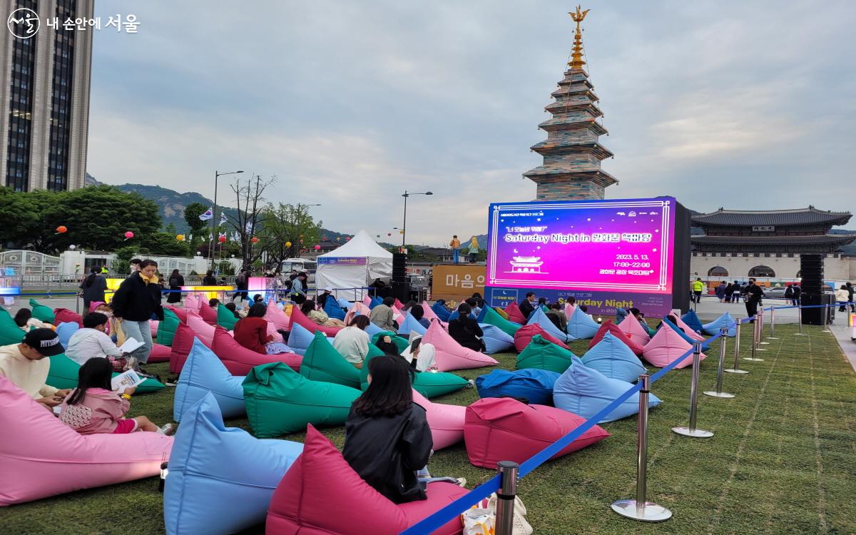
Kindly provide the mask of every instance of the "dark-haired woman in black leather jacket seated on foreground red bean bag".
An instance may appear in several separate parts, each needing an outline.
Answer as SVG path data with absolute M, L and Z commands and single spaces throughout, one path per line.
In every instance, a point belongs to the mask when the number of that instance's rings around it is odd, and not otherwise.
M 425 470 L 434 443 L 425 408 L 413 402 L 411 374 L 401 357 L 369 360 L 369 386 L 345 422 L 345 460 L 395 503 L 425 500 L 431 481 L 467 484 L 466 479 L 431 478 Z

